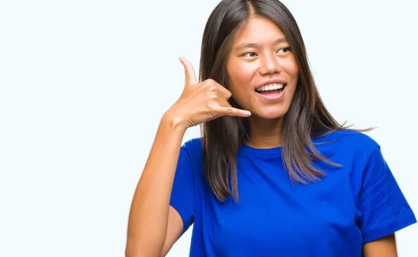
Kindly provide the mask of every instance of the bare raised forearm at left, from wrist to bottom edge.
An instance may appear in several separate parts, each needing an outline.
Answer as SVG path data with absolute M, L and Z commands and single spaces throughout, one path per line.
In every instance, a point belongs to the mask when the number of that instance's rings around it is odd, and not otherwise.
M 153 147 L 134 192 L 126 256 L 159 256 L 167 235 L 169 201 L 185 128 L 162 117 Z

